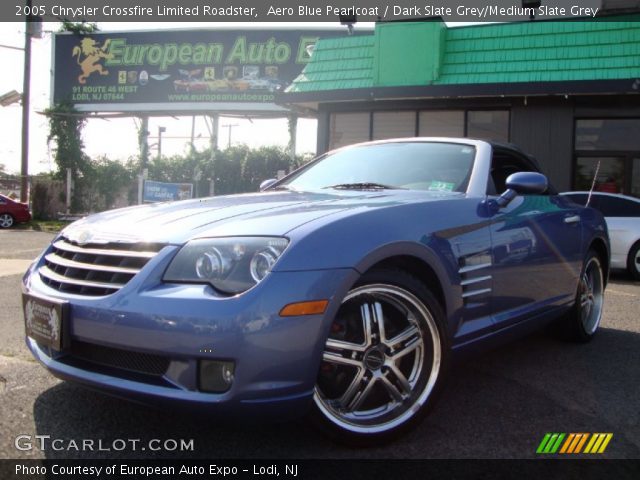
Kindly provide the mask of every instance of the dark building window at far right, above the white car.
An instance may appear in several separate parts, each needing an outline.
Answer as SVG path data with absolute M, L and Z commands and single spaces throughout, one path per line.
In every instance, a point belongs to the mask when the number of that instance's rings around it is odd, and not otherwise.
M 574 190 L 595 177 L 596 191 L 640 197 L 640 119 L 580 119 L 575 128 Z

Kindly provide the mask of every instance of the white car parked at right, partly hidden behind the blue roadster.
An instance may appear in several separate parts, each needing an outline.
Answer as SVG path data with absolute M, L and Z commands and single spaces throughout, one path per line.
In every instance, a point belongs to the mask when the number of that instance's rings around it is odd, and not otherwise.
M 589 192 L 566 192 L 586 205 Z M 627 270 L 640 280 L 640 199 L 627 195 L 593 192 L 589 206 L 604 215 L 611 241 L 611 268 Z

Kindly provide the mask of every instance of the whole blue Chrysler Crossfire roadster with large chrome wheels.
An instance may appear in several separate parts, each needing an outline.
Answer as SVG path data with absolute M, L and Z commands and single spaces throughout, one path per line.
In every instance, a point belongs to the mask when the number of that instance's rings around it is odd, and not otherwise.
M 591 339 L 608 271 L 602 215 L 517 148 L 369 142 L 260 193 L 73 223 L 24 276 L 26 341 L 107 393 L 372 444 L 418 423 L 462 351 L 551 321 Z

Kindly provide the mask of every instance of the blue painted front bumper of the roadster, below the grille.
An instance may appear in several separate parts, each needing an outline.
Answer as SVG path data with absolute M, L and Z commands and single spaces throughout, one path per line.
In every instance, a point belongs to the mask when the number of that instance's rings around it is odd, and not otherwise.
M 34 263 L 23 279 L 26 294 L 69 302 L 71 345 L 163 358 L 158 375 L 86 361 L 74 349 L 56 352 L 27 337 L 34 357 L 54 375 L 143 403 L 213 414 L 271 414 L 292 418 L 307 411 L 331 319 L 353 284 L 352 269 L 272 272 L 235 297 L 208 285 L 166 284 L 162 273 L 176 247 L 165 247 L 118 292 L 104 297 L 64 294 L 45 285 Z M 292 302 L 329 299 L 322 315 L 280 317 Z M 201 359 L 235 362 L 231 388 L 198 390 Z

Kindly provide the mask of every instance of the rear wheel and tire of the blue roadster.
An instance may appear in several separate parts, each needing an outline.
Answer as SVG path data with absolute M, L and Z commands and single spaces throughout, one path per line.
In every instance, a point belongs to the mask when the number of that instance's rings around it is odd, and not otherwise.
M 589 250 L 582 264 L 576 298 L 562 319 L 561 333 L 570 341 L 586 343 L 596 334 L 604 307 L 604 272 L 598 254 Z

